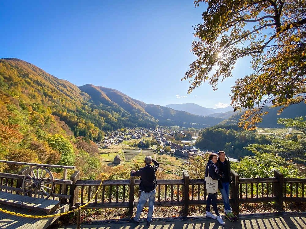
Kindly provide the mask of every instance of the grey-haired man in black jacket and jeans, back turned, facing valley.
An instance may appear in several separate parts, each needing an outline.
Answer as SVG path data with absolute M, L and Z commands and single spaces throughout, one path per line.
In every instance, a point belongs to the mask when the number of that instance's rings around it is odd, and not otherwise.
M 154 163 L 154 165 L 151 165 L 152 162 Z M 146 166 L 144 166 L 143 168 L 137 171 L 131 171 L 131 176 L 140 176 L 139 191 L 141 192 L 137 206 L 137 214 L 134 218 L 134 222 L 139 224 L 139 218 L 142 213 L 142 209 L 144 208 L 145 203 L 149 199 L 147 226 L 150 226 L 154 209 L 154 201 L 156 194 L 155 189 L 157 186 L 155 173 L 159 167 L 159 163 L 152 159 L 151 156 L 146 156 L 144 158 L 144 163 L 146 164 Z

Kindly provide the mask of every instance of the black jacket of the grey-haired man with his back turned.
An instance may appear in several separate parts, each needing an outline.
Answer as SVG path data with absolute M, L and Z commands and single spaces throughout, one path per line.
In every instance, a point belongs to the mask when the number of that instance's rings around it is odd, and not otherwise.
M 159 167 L 159 163 L 152 159 L 154 165 L 146 165 L 133 173 L 133 176 L 140 176 L 139 190 L 143 192 L 154 191 L 157 186 L 155 172 Z

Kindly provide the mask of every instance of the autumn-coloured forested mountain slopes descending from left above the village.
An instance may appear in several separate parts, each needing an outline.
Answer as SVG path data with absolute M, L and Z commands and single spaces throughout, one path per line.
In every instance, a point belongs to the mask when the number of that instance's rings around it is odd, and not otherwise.
M 155 128 L 157 124 L 202 127 L 222 121 L 148 105 L 115 89 L 90 84 L 77 87 L 14 58 L 0 59 L 0 93 L 4 119 L 8 119 L 7 112 L 24 107 L 37 112 L 35 123 L 42 123 L 45 129 L 47 116 L 52 120 L 57 116 L 75 137 L 87 136 L 92 140 L 101 139 L 101 131 L 124 127 Z M 33 112 L 28 115 L 31 114 L 34 115 Z M 36 128 L 35 123 L 30 124 L 32 128 Z

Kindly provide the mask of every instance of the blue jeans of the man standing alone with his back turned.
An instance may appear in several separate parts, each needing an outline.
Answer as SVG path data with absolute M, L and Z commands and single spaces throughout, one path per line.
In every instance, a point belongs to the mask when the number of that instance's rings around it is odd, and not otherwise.
M 152 221 L 155 194 L 156 194 L 155 190 L 153 190 L 151 192 L 141 192 L 139 202 L 138 202 L 138 206 L 137 206 L 137 214 L 134 218 L 135 221 L 139 221 L 140 215 L 142 213 L 142 209 L 144 208 L 144 205 L 146 204 L 148 199 L 149 199 L 149 210 L 148 210 L 147 221 L 148 222 Z

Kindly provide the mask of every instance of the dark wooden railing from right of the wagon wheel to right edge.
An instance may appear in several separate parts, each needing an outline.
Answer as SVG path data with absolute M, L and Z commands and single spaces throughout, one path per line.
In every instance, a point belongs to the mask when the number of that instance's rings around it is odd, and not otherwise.
M 283 202 L 306 202 L 306 179 L 284 178 L 278 170 L 274 177 L 240 178 L 231 170 L 232 183 L 230 188 L 230 203 L 233 211 L 239 214 L 240 203 L 275 202 L 279 211 Z M 96 192 L 101 180 L 78 180 L 76 187 L 81 187 L 80 205 L 87 203 Z M 95 200 L 85 208 L 129 208 L 132 214 L 140 197 L 139 180 L 104 180 L 101 191 Z M 289 192 L 288 192 L 289 190 Z M 290 193 L 290 194 L 288 194 Z M 185 216 L 188 206 L 206 204 L 206 188 L 204 179 L 189 179 L 188 172 L 183 171 L 182 179 L 157 180 L 155 207 L 182 206 Z M 218 203 L 222 203 L 218 195 Z M 147 206 L 148 203 L 145 205 Z

